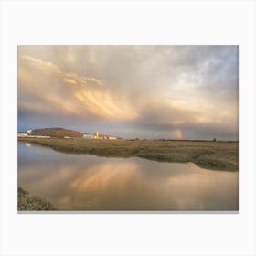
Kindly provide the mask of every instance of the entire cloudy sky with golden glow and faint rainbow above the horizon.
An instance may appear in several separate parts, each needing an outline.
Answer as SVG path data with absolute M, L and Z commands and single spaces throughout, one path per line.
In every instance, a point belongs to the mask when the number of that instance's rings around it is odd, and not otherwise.
M 18 46 L 18 131 L 238 140 L 238 46 Z

